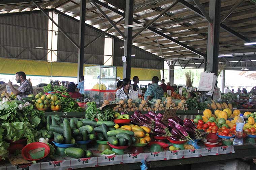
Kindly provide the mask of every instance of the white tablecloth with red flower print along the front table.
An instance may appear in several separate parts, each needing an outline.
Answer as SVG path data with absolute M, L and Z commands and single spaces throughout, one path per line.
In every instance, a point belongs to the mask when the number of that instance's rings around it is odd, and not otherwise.
M 147 151 L 147 149 L 145 149 Z M 178 151 L 147 152 L 141 154 L 124 154 L 115 156 L 101 156 L 99 151 L 92 150 L 93 155 L 97 157 L 72 159 L 69 157 L 56 156 L 57 161 L 41 162 L 35 164 L 12 166 L 11 164 L 1 165 L 1 170 L 72 170 L 85 167 L 98 167 L 116 164 L 138 163 L 143 159 L 149 161 L 186 159 L 193 157 L 202 157 L 209 155 L 221 155 L 235 153 L 233 146 L 222 146 L 215 148 L 202 148 Z M 138 167 L 139 168 L 139 167 Z

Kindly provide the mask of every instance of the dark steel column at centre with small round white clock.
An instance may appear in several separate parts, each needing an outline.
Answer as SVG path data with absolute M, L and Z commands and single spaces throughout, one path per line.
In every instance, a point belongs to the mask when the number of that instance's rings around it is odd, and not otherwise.
M 126 0 L 125 5 L 125 25 L 131 25 L 133 19 L 133 3 L 134 0 Z M 131 53 L 132 53 L 132 27 L 124 29 L 124 56 L 126 62 L 123 67 L 123 78 L 131 78 Z

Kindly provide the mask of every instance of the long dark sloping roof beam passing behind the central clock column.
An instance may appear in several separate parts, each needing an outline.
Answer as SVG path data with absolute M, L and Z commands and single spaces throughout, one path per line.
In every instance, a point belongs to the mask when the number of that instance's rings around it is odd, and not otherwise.
M 113 11 L 113 12 L 116 12 L 117 14 L 119 14 L 121 16 L 125 16 L 125 14 L 123 12 L 120 12 L 120 11 L 116 10 L 115 8 L 112 8 L 112 7 L 106 5 L 106 4 L 104 4 L 104 3 L 102 3 L 102 2 L 100 2 L 98 0 L 95 0 L 95 2 L 97 2 L 99 5 L 105 7 L 105 8 L 107 8 L 107 9 Z M 134 18 L 133 18 L 133 22 L 135 22 L 135 23 L 142 23 L 142 22 L 140 22 L 140 21 L 138 21 L 138 20 L 136 20 Z M 148 30 L 150 30 L 150 31 L 154 32 L 155 34 L 158 34 L 158 35 L 160 35 L 160 36 L 162 36 L 162 37 L 164 37 L 164 38 L 174 42 L 175 44 L 178 44 L 179 46 L 182 46 L 182 47 L 192 51 L 193 53 L 195 53 L 195 54 L 197 54 L 199 56 L 205 57 L 205 54 L 203 54 L 203 53 L 201 53 L 201 52 L 199 52 L 199 51 L 197 51 L 197 50 L 195 50 L 195 49 L 193 49 L 193 48 L 191 48 L 191 47 L 189 47 L 189 46 L 187 46 L 187 45 L 185 45 L 185 44 L 183 44 L 183 43 L 181 43 L 181 42 L 179 42 L 179 41 L 177 41 L 177 40 L 175 40 L 175 39 L 173 39 L 173 38 L 171 38 L 171 37 L 169 37 L 167 35 L 165 35 L 164 33 L 161 33 L 160 31 L 157 31 L 156 29 L 154 29 L 154 28 L 152 28 L 150 26 L 148 27 Z

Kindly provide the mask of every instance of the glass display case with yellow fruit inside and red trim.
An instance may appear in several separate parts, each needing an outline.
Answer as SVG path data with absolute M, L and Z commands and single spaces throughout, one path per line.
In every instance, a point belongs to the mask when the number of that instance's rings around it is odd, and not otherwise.
M 116 99 L 117 67 L 97 65 L 85 67 L 85 98 L 98 105 Z

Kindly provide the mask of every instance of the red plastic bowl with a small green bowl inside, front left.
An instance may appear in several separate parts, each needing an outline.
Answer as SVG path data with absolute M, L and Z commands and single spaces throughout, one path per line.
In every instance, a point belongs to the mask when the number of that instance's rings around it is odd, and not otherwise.
M 29 154 L 29 151 L 32 150 L 32 149 L 37 149 L 37 148 L 45 148 L 44 150 L 44 156 L 42 158 L 39 158 L 39 159 L 32 159 L 30 154 Z M 27 159 L 27 160 L 30 160 L 30 161 L 36 161 L 36 160 L 40 160 L 40 159 L 43 159 L 45 158 L 48 154 L 50 153 L 50 147 L 45 144 L 45 143 L 42 143 L 42 142 L 33 142 L 33 143 L 30 143 L 28 145 L 26 145 L 22 151 L 21 151 L 21 155 L 23 156 L 24 159 Z

